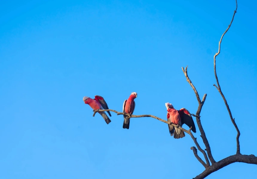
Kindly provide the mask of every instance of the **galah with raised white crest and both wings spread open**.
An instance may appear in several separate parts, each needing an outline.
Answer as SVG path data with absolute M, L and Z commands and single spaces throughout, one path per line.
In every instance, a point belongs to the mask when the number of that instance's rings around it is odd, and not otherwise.
M 195 123 L 194 123 L 193 118 L 190 115 L 190 112 L 188 110 L 186 110 L 185 108 L 181 108 L 180 110 L 176 110 L 176 109 L 174 109 L 174 107 L 170 103 L 165 103 L 165 106 L 166 106 L 167 111 L 168 111 L 167 112 L 168 122 L 176 124 L 177 127 L 178 126 L 182 127 L 183 124 L 186 124 L 187 126 L 192 127 L 191 130 L 193 132 L 196 132 Z M 178 129 L 177 127 L 174 127 L 170 124 L 168 124 L 168 126 L 169 126 L 170 136 L 174 135 L 175 139 L 185 137 L 185 133 L 184 133 L 183 130 Z

